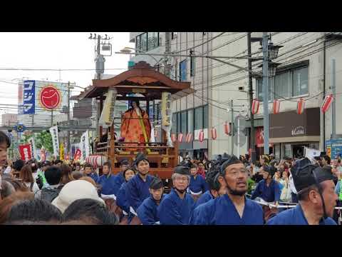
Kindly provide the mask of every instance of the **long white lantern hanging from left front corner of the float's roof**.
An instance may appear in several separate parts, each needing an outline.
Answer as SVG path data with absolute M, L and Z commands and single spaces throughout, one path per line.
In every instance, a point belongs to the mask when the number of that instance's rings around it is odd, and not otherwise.
M 108 90 L 108 94 L 105 98 L 105 104 L 103 104 L 103 110 L 98 121 L 99 126 L 108 128 L 112 126 L 115 116 L 115 100 L 118 91 L 116 89 Z

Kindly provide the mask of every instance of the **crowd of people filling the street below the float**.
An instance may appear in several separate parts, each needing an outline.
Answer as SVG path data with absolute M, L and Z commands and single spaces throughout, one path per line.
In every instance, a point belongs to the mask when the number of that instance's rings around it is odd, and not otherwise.
M 77 161 L 10 161 L 0 131 L 0 224 L 334 225 L 341 222 L 341 160 L 246 156 L 180 158 L 168 181 L 148 156 L 101 167 Z

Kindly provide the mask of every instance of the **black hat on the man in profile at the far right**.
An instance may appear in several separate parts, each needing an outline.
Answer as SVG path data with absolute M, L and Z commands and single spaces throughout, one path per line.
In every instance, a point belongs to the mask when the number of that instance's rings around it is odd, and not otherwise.
M 316 179 L 315 179 L 315 175 Z M 333 180 L 333 173 L 329 168 L 321 168 L 311 164 L 309 158 L 303 158 L 296 161 L 291 168 L 291 174 L 294 178 L 294 186 L 296 191 L 301 191 L 304 188 L 321 183 L 323 181 Z

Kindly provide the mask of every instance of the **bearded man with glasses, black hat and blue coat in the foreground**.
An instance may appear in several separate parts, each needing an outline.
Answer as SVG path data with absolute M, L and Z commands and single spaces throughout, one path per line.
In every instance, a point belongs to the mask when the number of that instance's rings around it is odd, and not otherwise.
M 237 156 L 229 156 L 221 166 L 219 183 L 227 193 L 199 205 L 191 219 L 194 225 L 262 225 L 263 212 L 258 203 L 245 197 L 247 169 Z

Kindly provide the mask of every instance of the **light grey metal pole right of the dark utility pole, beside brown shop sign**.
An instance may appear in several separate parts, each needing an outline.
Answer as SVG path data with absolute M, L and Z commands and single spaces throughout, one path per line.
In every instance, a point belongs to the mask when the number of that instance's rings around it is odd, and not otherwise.
M 267 32 L 262 34 L 262 90 L 264 91 L 264 154 L 269 154 L 269 36 Z

